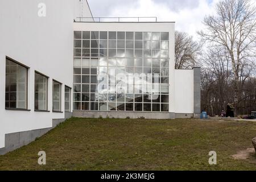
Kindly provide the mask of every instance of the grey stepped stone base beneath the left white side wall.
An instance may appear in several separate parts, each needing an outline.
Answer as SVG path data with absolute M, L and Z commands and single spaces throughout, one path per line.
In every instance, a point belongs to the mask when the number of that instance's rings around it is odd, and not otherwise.
M 33 142 L 36 138 L 42 137 L 48 131 L 55 128 L 59 123 L 64 122 L 66 119 L 71 118 L 72 113 L 65 113 L 65 118 L 63 119 L 52 119 L 52 127 L 46 129 L 22 131 L 17 133 L 5 134 L 5 147 L 0 148 L 0 155 L 4 155 L 10 151 L 16 150 L 22 146 Z

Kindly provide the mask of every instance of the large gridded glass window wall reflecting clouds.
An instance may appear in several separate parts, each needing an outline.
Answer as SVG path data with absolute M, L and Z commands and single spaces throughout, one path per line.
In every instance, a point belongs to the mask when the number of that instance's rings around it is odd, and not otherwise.
M 169 33 L 75 31 L 73 109 L 168 111 Z

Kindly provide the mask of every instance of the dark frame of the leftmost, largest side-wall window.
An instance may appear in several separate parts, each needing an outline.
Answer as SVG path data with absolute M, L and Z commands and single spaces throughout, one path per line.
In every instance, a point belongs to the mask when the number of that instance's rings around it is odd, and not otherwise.
M 18 64 L 20 65 L 21 67 L 24 67 L 26 68 L 26 108 L 19 108 L 19 107 L 6 107 L 5 105 L 5 110 L 20 110 L 20 111 L 31 111 L 30 109 L 28 109 L 28 69 L 30 69 L 30 67 L 28 67 L 27 65 L 24 65 L 22 63 L 20 63 L 19 61 L 16 61 L 14 59 L 12 59 L 11 57 L 9 56 L 6 56 L 5 57 L 5 88 L 6 88 L 6 61 L 9 60 L 9 61 L 12 61 L 13 63 L 15 64 Z M 5 94 L 6 94 L 6 91 L 5 91 Z M 6 102 L 6 99 L 5 99 L 5 102 Z

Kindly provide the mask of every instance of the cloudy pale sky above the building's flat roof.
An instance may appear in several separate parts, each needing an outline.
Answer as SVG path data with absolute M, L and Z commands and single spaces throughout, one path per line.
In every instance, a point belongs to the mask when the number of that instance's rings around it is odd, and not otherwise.
M 212 14 L 219 0 L 88 0 L 97 16 L 157 16 L 158 21 L 175 21 L 176 30 L 193 36 L 202 28 L 204 16 Z

